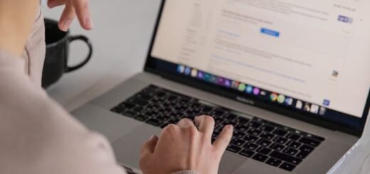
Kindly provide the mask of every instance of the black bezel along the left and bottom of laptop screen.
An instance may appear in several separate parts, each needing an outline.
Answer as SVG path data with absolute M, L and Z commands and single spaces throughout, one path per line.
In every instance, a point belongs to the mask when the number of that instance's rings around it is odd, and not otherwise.
M 165 1 L 166 0 L 162 0 L 161 4 L 159 6 L 159 13 L 157 15 L 157 20 L 156 20 L 156 23 L 154 25 L 154 31 L 152 33 L 152 39 L 150 41 L 150 45 L 149 45 L 149 49 L 148 49 L 148 53 L 147 53 L 147 60 L 146 60 L 145 65 L 144 65 L 144 71 L 154 73 L 156 75 L 159 75 L 161 77 L 164 77 L 166 79 L 169 79 L 169 80 L 172 80 L 172 81 L 175 81 L 175 82 L 179 82 L 179 83 L 184 84 L 184 85 L 189 85 L 191 87 L 196 87 L 197 89 L 205 90 L 206 92 L 211 92 L 211 93 L 218 94 L 218 95 L 221 95 L 221 96 L 229 98 L 229 99 L 236 100 L 236 97 L 238 97 L 239 95 L 238 94 L 233 94 L 234 92 L 231 92 L 230 89 L 226 89 L 225 87 L 220 87 L 218 85 L 213 85 L 213 84 L 210 84 L 208 82 L 201 81 L 201 80 L 196 80 L 196 79 L 191 78 L 191 77 L 186 77 L 186 76 L 183 76 L 183 75 L 179 75 L 177 73 L 169 73 L 168 71 L 164 70 L 163 68 L 157 67 L 157 64 L 159 62 L 169 63 L 169 62 L 166 62 L 165 60 L 161 60 L 159 58 L 152 57 L 152 48 L 154 46 L 155 38 L 157 36 L 157 30 L 159 28 L 159 23 L 160 23 L 160 20 L 161 20 L 162 11 L 164 9 Z M 356 129 L 350 128 L 349 126 L 345 126 L 344 124 L 329 121 L 327 119 L 322 119 L 320 117 L 314 117 L 314 116 L 312 116 L 312 114 L 305 114 L 303 112 L 295 112 L 295 111 L 285 109 L 285 108 L 282 108 L 282 107 L 274 106 L 273 104 L 267 104 L 263 101 L 258 101 L 258 100 L 255 100 L 255 99 L 250 99 L 250 100 L 253 101 L 253 102 L 250 102 L 250 103 L 253 103 L 253 104 L 250 104 L 250 105 L 253 105 L 255 107 L 260 107 L 262 109 L 267 109 L 270 112 L 275 112 L 277 114 L 282 114 L 284 116 L 289 116 L 289 117 L 294 118 L 294 119 L 299 119 L 301 121 L 306 121 L 310 124 L 314 124 L 314 125 L 317 125 L 317 126 L 322 126 L 324 128 L 327 128 L 327 129 L 343 131 L 343 132 L 346 132 L 347 134 L 351 134 L 351 135 L 354 135 L 354 136 L 357 136 L 357 137 L 361 137 L 362 134 L 363 134 L 363 131 L 364 131 L 364 127 L 365 127 L 365 124 L 366 124 L 366 119 L 367 119 L 367 116 L 369 114 L 369 109 L 370 109 L 370 88 L 369 88 L 369 93 L 368 93 L 367 101 L 366 101 L 366 104 L 365 104 L 363 116 L 361 117 L 360 124 L 359 124 L 358 127 L 356 127 Z M 240 102 L 240 101 L 238 101 L 238 102 Z

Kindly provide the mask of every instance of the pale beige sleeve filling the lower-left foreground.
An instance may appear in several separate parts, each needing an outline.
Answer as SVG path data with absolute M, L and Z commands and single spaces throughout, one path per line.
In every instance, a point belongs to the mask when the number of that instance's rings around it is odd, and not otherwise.
M 106 138 L 33 85 L 24 66 L 0 50 L 0 173 L 125 173 Z

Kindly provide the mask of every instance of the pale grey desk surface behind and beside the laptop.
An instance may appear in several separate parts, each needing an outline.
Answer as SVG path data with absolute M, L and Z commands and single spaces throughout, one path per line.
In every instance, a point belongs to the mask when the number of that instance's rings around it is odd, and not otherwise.
M 71 111 L 140 72 L 159 3 L 160 0 L 91 0 L 95 28 L 83 31 L 74 21 L 71 33 L 83 34 L 92 40 L 93 59 L 81 70 L 64 75 L 48 94 Z M 62 11 L 62 8 L 43 9 L 47 18 L 54 19 L 58 19 Z M 87 51 L 83 43 L 73 43 L 69 64 L 83 60 Z M 366 161 L 369 145 L 370 130 L 367 130 L 359 147 L 335 173 L 360 173 L 360 170 L 370 173 L 370 161 Z

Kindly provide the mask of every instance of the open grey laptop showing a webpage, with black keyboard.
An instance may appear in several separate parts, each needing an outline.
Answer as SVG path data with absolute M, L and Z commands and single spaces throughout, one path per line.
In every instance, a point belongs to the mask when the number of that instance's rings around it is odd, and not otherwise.
M 370 107 L 370 1 L 162 1 L 143 72 L 72 114 L 139 171 L 168 124 L 235 131 L 219 173 L 329 173 Z M 368 9 L 369 9 L 368 8 Z

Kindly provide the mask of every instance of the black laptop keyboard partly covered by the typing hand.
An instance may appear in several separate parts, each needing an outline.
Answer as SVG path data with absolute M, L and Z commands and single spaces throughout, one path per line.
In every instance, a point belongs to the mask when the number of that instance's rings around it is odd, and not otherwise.
M 234 133 L 227 151 L 287 171 L 294 170 L 325 140 L 154 85 L 142 89 L 111 111 L 160 128 L 184 118 L 194 119 L 203 114 L 213 116 L 216 124 L 212 141 L 223 126 L 232 124 Z

